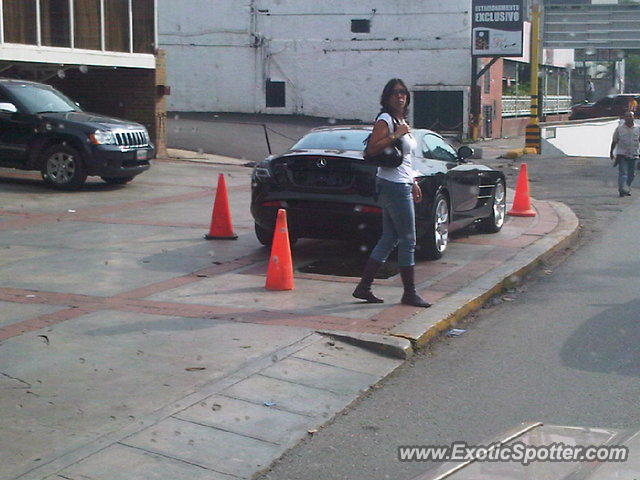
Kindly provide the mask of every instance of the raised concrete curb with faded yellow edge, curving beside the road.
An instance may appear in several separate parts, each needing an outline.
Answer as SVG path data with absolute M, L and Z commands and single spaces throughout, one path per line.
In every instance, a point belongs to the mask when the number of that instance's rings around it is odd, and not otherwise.
M 483 275 L 459 292 L 393 328 L 389 335 L 407 339 L 419 348 L 469 313 L 479 310 L 492 296 L 521 282 L 522 278 L 547 258 L 567 248 L 578 237 L 578 217 L 565 204 L 548 202 L 559 217 L 558 227 L 504 265 Z

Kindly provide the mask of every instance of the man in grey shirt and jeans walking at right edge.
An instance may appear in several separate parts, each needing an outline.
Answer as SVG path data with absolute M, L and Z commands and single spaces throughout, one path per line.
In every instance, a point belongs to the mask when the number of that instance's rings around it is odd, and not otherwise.
M 618 166 L 618 193 L 621 197 L 631 195 L 631 182 L 635 177 L 636 160 L 640 153 L 640 127 L 633 121 L 633 112 L 624 114 L 624 123 L 613 132 L 610 157 L 613 166 Z M 614 157 L 615 155 L 615 157 Z

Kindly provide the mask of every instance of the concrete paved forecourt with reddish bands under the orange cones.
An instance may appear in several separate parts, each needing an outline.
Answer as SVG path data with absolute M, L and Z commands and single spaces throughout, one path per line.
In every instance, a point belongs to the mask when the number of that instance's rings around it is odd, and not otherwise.
M 373 305 L 351 298 L 357 278 L 300 272 L 339 242 L 301 241 L 295 290 L 268 292 L 250 170 L 195 160 L 77 193 L 0 171 L 2 478 L 250 478 L 577 231 L 534 202 L 458 235 L 416 268 L 427 310 L 394 303 L 397 276 Z M 221 172 L 235 242 L 202 239 Z

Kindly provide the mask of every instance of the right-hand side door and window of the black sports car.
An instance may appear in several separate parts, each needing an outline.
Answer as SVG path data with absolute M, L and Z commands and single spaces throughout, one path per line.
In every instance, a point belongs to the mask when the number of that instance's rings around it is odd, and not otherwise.
M 442 137 L 428 133 L 423 141 L 430 152 L 430 157 L 445 162 L 447 167 L 447 188 L 451 197 L 451 213 L 453 220 L 470 217 L 475 208 L 480 190 L 480 176 L 473 164 L 461 163 L 455 149 Z

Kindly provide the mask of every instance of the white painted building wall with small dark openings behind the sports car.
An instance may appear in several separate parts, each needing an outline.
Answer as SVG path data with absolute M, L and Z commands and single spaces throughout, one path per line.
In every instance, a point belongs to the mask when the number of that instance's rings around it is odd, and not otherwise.
M 169 109 L 371 120 L 392 77 L 468 87 L 469 0 L 159 0 Z M 369 19 L 370 33 L 352 33 Z M 266 108 L 267 79 L 286 106 Z

